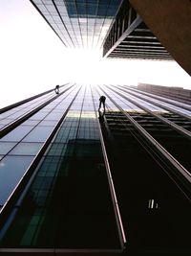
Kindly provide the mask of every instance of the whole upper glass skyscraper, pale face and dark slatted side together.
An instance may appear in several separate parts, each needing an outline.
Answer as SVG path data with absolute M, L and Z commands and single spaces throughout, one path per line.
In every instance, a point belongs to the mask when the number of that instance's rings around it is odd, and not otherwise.
M 69 48 L 108 58 L 172 59 L 129 0 L 31 0 Z

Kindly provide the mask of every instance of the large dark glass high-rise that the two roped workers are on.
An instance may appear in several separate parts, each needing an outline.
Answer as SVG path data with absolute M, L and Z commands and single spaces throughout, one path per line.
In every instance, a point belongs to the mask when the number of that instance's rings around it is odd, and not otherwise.
M 67 83 L 0 110 L 0 253 L 190 255 L 190 91 L 140 87 Z

